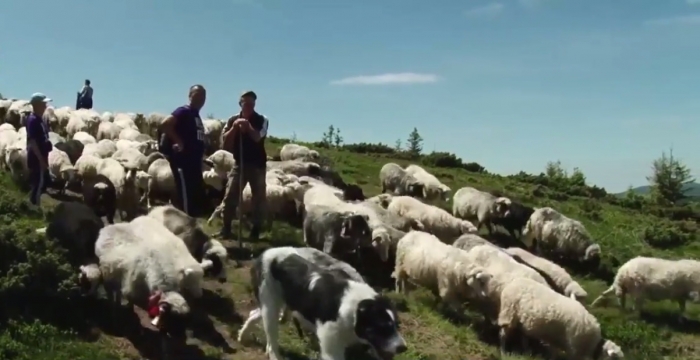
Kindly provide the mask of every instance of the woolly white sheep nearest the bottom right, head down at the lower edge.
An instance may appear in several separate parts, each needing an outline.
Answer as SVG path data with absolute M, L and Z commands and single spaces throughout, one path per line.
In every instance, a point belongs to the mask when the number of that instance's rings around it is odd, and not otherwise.
M 530 279 L 508 283 L 501 292 L 498 314 L 501 353 L 510 335 L 521 330 L 524 335 L 562 350 L 567 360 L 620 359 L 620 347 L 603 339 L 600 323 L 578 301 Z M 552 354 L 554 355 L 554 354 Z

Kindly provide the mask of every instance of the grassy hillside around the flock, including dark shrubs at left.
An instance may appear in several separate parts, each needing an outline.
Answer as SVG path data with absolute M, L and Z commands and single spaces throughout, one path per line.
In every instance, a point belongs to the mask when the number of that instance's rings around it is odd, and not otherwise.
M 283 142 L 270 139 L 269 153 L 274 154 Z M 359 184 L 368 195 L 379 193 L 378 173 L 389 161 L 406 165 L 392 154 L 358 154 L 351 151 L 320 149 L 347 182 Z M 401 156 L 398 156 L 401 157 Z M 653 211 L 635 210 L 616 197 L 600 194 L 599 190 L 574 188 L 556 184 L 543 185 L 536 176 L 503 177 L 464 169 L 426 166 L 452 189 L 474 186 L 481 190 L 498 191 L 533 206 L 552 206 L 572 218 L 582 221 L 601 244 L 603 261 L 595 274 L 576 275 L 588 291 L 590 300 L 597 297 L 612 280 L 614 270 L 637 255 L 665 258 L 698 258 L 695 222 L 675 221 L 660 217 Z M 565 189 L 571 189 L 569 193 Z M 577 190 L 578 189 L 578 190 Z M 583 190 L 581 190 L 583 189 Z M 575 191 L 574 191 L 575 190 Z M 568 191 L 568 190 L 567 190 Z M 572 195 L 572 192 L 574 195 Z M 615 198 L 615 199 L 611 199 Z M 54 202 L 44 200 L 50 207 Z M 447 206 L 447 204 L 440 204 Z M 627 206 L 627 207 L 623 207 Z M 24 195 L 0 174 L 0 304 L 2 324 L 9 329 L 0 335 L 0 360 L 75 360 L 75 359 L 139 359 L 144 341 L 138 337 L 115 335 L 107 329 L 102 312 L 87 304 L 69 290 L 74 280 L 67 268 L 65 254 L 52 243 L 31 232 L 40 226 L 44 214 L 32 209 Z M 213 229 L 212 229 L 213 230 Z M 276 224 L 264 239 L 245 244 L 253 254 L 266 247 L 301 245 L 299 230 Z M 233 243 L 225 244 L 232 253 L 239 253 Z M 248 270 L 231 268 L 226 284 L 207 284 L 206 309 L 211 313 L 211 325 L 223 342 L 202 339 L 192 334 L 190 343 L 201 352 L 186 359 L 264 360 L 263 345 L 242 346 L 232 339 L 248 311 L 254 307 L 249 293 Z M 497 359 L 497 334 L 485 333 L 481 316 L 467 312 L 455 320 L 436 310 L 432 296 L 417 290 L 407 297 L 392 295 L 400 308 L 401 328 L 409 343 L 409 351 L 397 360 L 478 360 Z M 677 305 L 670 302 L 647 303 L 640 316 L 622 311 L 610 301 L 591 309 L 602 323 L 605 335 L 623 347 L 626 357 L 635 360 L 697 359 L 700 358 L 700 323 L 677 321 Z M 690 319 L 698 319 L 700 308 L 690 305 Z M 299 340 L 291 326 L 283 326 L 282 346 L 292 359 L 314 358 L 313 346 Z M 264 343 L 261 330 L 255 331 Z M 112 335 L 110 335 L 112 334 Z M 220 339 L 221 340 L 221 339 Z M 221 344 L 225 344 L 221 346 Z M 509 359 L 541 359 L 540 356 L 516 355 Z M 351 359 L 363 359 L 353 356 Z

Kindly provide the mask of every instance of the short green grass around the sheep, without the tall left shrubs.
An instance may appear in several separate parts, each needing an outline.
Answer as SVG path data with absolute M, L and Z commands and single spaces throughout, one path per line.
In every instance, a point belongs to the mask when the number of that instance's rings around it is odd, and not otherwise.
M 271 142 L 269 153 L 274 154 L 281 147 L 281 143 Z M 378 174 L 381 166 L 389 161 L 406 165 L 408 162 L 393 160 L 383 156 L 360 155 L 351 152 L 320 150 L 328 157 L 334 167 L 342 174 L 346 182 L 357 183 L 364 189 L 367 195 L 379 193 Z M 651 215 L 642 214 L 633 210 L 610 205 L 591 199 L 569 197 L 566 201 L 557 201 L 552 198 L 538 197 L 539 192 L 535 185 L 516 182 L 510 178 L 491 175 L 470 173 L 461 169 L 427 168 L 447 185 L 456 190 L 462 186 L 473 186 L 481 190 L 502 191 L 507 196 L 520 200 L 533 206 L 551 206 L 569 217 L 582 221 L 591 232 L 592 236 L 601 244 L 603 249 L 603 261 L 601 267 L 604 271 L 597 272 L 595 276 L 576 276 L 589 292 L 590 300 L 597 297 L 607 286 L 611 274 L 619 265 L 637 255 L 652 255 L 665 258 L 698 258 L 700 247 L 697 238 L 693 235 L 692 241 L 683 246 L 660 249 L 649 245 L 644 240 L 644 234 L 648 229 L 668 224 L 668 220 Z M 9 201 L 8 193 L 14 190 L 3 186 L 0 188 L 0 211 L 4 202 Z M 15 200 L 13 200 L 15 201 Z M 448 204 L 438 204 L 443 207 Z M 22 210 L 23 211 L 23 210 Z M 11 220 L 11 219 L 10 219 Z M 14 220 L 12 220 L 14 221 Z M 40 223 L 40 219 L 31 220 L 32 226 Z M 2 215 L 0 215 L 0 225 Z M 0 229 L 2 230 L 2 229 Z M 215 230 L 214 228 L 211 229 Z M 269 246 L 289 244 L 302 244 L 300 231 L 285 224 L 276 224 L 275 227 L 264 235 L 264 240 L 256 244 L 245 244 L 259 253 Z M 235 247 L 233 243 L 227 246 Z M 0 249 L 1 250 L 1 249 Z M 2 255 L 0 255 L 2 256 Z M 233 348 L 224 349 L 218 345 L 210 345 L 211 342 L 190 339 L 190 343 L 202 348 L 203 354 L 192 359 L 240 359 L 263 360 L 266 359 L 262 344 L 238 344 L 233 339 L 241 325 L 241 318 L 245 318 L 255 305 L 252 301 L 249 288 L 248 269 L 231 268 L 229 282 L 226 284 L 209 283 L 207 287 L 228 301 L 218 300 L 209 305 L 213 315 L 211 319 L 215 329 L 221 333 L 228 345 Z M 5 274 L 0 273 L 0 277 Z M 2 288 L 0 288 L 2 291 Z M 443 316 L 436 310 L 432 296 L 424 290 L 416 290 L 407 297 L 390 294 L 400 305 L 401 327 L 406 340 L 409 343 L 409 351 L 397 357 L 397 360 L 407 359 L 496 359 L 498 349 L 493 345 L 493 334 L 490 341 L 482 339 L 481 316 L 467 311 L 464 319 L 458 324 L 456 321 Z M 234 311 L 237 314 L 226 314 Z M 629 359 L 693 359 L 700 358 L 700 326 L 689 329 L 691 326 L 681 327 L 676 321 L 677 305 L 670 302 L 647 303 L 643 317 L 631 311 L 622 311 L 615 301 L 610 301 L 597 308 L 590 309 L 596 315 L 603 326 L 605 335 L 614 340 L 625 351 Z M 215 311 L 214 311 L 215 310 Z M 697 319 L 700 308 L 696 305 L 688 307 L 687 316 Z M 692 321 L 691 321 L 692 322 Z M 96 342 L 79 340 L 75 333 L 67 333 L 62 326 L 52 326 L 50 321 L 17 322 L 12 325 L 14 331 L 6 331 L 0 335 L 0 360 L 12 357 L 12 351 L 21 353 L 19 359 L 136 359 L 138 353 L 129 342 L 114 336 L 103 335 Z M 300 340 L 293 332 L 291 326 L 282 327 L 282 347 L 293 359 L 313 358 L 317 356 L 314 346 L 306 340 Z M 261 330 L 255 330 L 259 342 L 264 343 Z M 527 355 L 513 354 L 509 359 L 540 359 Z M 362 356 L 353 356 L 353 360 L 363 360 Z

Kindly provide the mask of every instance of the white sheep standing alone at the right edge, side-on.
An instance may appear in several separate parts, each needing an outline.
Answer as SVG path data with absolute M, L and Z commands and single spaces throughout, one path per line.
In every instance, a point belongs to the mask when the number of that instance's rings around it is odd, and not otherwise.
M 645 299 L 674 300 L 678 303 L 679 317 L 683 320 L 686 301 L 700 301 L 700 261 L 635 257 L 617 270 L 610 288 L 595 299 L 591 306 L 596 306 L 613 292 L 623 308 L 626 295 L 630 294 L 635 300 L 633 309 L 637 311 L 642 310 Z

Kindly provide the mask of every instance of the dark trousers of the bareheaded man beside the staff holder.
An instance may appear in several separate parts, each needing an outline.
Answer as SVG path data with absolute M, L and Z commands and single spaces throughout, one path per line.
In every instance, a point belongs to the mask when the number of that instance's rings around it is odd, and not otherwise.
M 204 213 L 204 179 L 202 179 L 202 161 L 170 161 L 178 196 L 174 206 L 192 217 Z

